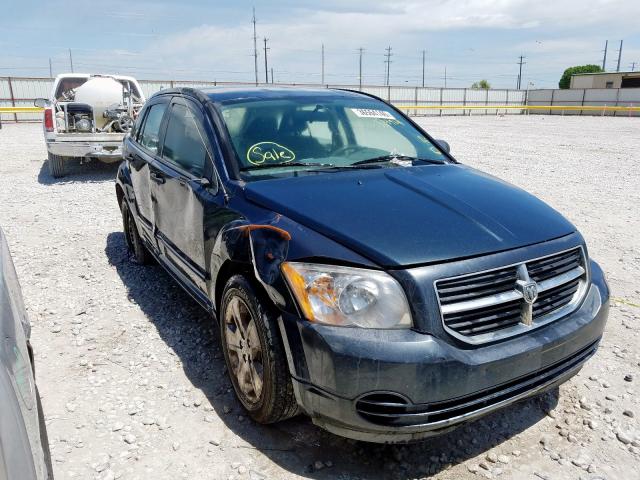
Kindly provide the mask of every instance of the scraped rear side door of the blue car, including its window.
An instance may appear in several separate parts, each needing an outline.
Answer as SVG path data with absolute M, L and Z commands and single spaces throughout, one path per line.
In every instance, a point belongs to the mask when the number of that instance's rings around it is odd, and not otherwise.
M 164 114 L 170 97 L 152 100 L 145 108 L 140 128 L 127 140 L 125 158 L 129 162 L 131 183 L 135 193 L 135 208 L 139 226 L 151 245 L 153 236 L 153 206 L 151 203 L 151 179 L 149 166 L 160 155 L 160 135 Z

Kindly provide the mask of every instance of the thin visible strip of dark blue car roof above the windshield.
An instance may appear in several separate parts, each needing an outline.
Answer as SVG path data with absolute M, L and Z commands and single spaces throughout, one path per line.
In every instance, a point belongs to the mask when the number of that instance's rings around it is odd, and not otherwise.
M 197 89 L 210 100 L 219 103 L 251 101 L 260 99 L 284 99 L 296 97 L 364 97 L 365 94 L 349 90 L 335 88 L 309 88 L 309 87 L 210 87 Z

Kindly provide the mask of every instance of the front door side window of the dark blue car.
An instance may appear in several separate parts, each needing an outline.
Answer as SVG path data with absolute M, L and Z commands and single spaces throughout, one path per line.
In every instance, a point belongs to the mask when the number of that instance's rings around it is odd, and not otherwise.
M 205 133 L 194 113 L 179 103 L 171 107 L 162 156 L 193 175 L 202 175 L 207 150 Z

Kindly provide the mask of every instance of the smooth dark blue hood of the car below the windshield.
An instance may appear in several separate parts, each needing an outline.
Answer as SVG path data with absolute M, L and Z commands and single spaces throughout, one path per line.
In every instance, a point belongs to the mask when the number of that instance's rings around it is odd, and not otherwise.
M 536 197 L 463 165 L 305 174 L 248 183 L 245 195 L 385 267 L 494 253 L 575 231 Z

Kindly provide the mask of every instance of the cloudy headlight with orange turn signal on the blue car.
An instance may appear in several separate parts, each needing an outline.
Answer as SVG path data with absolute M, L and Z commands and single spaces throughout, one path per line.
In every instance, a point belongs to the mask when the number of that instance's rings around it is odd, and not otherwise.
M 282 271 L 308 320 L 363 328 L 411 327 L 404 291 L 384 272 L 295 262 L 283 263 Z

